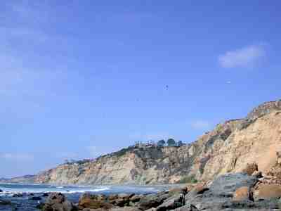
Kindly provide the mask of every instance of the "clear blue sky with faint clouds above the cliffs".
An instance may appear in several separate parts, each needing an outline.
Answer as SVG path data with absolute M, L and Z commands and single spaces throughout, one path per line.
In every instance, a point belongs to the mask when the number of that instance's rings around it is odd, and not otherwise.
M 194 141 L 279 99 L 280 6 L 2 1 L 0 177 L 137 140 Z

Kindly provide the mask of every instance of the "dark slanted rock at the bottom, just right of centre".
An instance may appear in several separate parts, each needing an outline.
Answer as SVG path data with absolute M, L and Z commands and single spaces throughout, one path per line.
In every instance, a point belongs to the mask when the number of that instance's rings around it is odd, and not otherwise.
M 138 204 L 138 208 L 141 210 L 148 210 L 152 207 L 158 207 L 167 198 L 169 198 L 169 193 L 166 191 L 143 196 Z

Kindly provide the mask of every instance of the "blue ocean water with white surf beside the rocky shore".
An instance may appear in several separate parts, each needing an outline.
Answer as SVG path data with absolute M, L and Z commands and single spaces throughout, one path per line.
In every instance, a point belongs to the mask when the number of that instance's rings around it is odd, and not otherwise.
M 0 199 L 10 200 L 11 205 L 0 205 L 0 210 L 34 211 L 39 203 L 44 203 L 46 197 L 43 193 L 64 193 L 68 200 L 77 203 L 81 194 L 89 192 L 96 194 L 157 193 L 169 189 L 170 186 L 54 186 L 46 184 L 0 184 Z M 33 196 L 41 197 L 41 200 L 31 200 Z

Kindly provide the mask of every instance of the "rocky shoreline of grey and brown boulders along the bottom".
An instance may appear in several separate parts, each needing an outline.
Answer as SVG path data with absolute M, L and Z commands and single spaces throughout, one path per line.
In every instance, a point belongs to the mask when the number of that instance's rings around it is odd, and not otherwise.
M 84 193 L 74 203 L 63 193 L 49 193 L 37 209 L 43 211 L 199 211 L 281 210 L 281 185 L 276 175 L 259 172 L 255 163 L 242 172 L 223 174 L 214 181 L 185 184 L 159 193 Z M 33 198 L 32 198 L 33 197 Z M 31 196 L 30 200 L 40 200 Z M 1 205 L 12 206 L 0 199 Z M 0 209 L 1 210 L 1 209 Z

